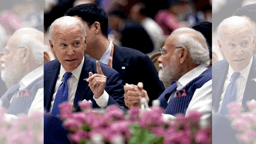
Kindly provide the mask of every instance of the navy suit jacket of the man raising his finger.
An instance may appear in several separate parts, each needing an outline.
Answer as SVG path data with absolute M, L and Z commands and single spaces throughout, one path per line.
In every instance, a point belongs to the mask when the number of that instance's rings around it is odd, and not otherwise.
M 103 63 L 100 63 L 100 67 L 102 68 L 103 74 L 107 76 L 105 90 L 109 94 L 108 105 L 119 104 L 120 106 L 122 106 L 121 108 L 124 109 L 124 88 L 122 86 L 120 74 Z M 60 62 L 58 62 L 58 60 L 46 62 L 44 64 L 44 107 L 46 108 L 47 112 L 50 111 L 51 100 L 53 97 L 59 72 Z M 79 107 L 78 101 L 82 101 L 84 99 L 86 99 L 87 101 L 91 100 L 93 108 L 99 108 L 99 106 L 93 99 L 93 93 L 88 86 L 89 83 L 86 82 L 86 80 L 83 80 L 89 77 L 89 72 L 97 73 L 96 61 L 92 58 L 85 56 L 85 61 L 83 63 L 83 68 L 79 78 L 73 104 L 73 107 L 76 109 L 78 109 Z

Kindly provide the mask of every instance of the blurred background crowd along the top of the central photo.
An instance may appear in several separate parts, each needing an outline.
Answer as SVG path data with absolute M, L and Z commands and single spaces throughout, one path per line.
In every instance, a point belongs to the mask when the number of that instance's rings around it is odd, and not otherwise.
M 94 3 L 108 13 L 108 38 L 115 45 L 149 56 L 160 51 L 173 30 L 212 19 L 209 0 L 45 0 L 46 46 L 50 24 L 69 8 L 85 3 Z

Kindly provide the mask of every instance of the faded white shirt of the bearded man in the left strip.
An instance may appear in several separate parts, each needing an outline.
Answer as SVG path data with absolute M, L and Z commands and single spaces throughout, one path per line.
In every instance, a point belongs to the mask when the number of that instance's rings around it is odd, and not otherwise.
M 29 72 L 19 81 L 19 91 L 24 90 L 29 84 L 31 84 L 34 80 L 38 79 L 40 76 L 43 76 L 43 65 Z M 11 101 L 13 97 L 11 98 Z M 10 103 L 11 103 L 10 101 Z M 31 107 L 28 111 L 28 116 L 30 116 L 33 112 L 42 112 L 43 114 L 43 88 L 38 89 L 36 92 L 36 96 L 31 103 Z M 18 117 L 11 114 L 5 114 L 5 119 L 17 119 Z

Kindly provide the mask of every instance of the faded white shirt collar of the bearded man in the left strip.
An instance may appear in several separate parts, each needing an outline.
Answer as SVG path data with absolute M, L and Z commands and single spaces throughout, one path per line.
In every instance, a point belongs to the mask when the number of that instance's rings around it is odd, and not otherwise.
M 34 80 L 38 79 L 43 75 L 43 65 L 29 72 L 19 81 L 19 90 L 25 89 L 29 84 L 31 84 Z

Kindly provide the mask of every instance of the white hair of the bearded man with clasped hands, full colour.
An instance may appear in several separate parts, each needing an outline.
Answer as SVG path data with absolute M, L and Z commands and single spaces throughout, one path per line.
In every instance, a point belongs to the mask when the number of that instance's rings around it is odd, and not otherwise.
M 175 36 L 176 47 L 186 47 L 195 64 L 210 64 L 209 48 L 202 33 L 191 28 L 179 28 L 171 33 Z

